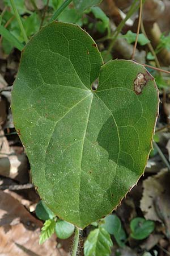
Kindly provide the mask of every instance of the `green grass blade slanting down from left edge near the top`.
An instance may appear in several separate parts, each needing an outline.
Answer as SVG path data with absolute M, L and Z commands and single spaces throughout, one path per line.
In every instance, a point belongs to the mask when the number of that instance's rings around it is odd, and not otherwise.
M 15 38 L 14 35 L 11 34 L 10 31 L 8 31 L 5 27 L 2 25 L 0 26 L 0 34 L 3 36 L 6 40 L 14 44 L 14 46 L 19 49 L 19 51 L 22 51 L 24 45 L 19 42 L 17 38 Z

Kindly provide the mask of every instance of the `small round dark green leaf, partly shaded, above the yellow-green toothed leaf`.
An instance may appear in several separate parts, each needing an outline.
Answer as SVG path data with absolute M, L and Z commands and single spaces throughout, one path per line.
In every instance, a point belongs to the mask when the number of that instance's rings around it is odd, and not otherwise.
M 49 218 L 54 218 L 54 213 L 46 206 L 44 201 L 39 201 L 36 206 L 36 216 L 40 218 L 40 220 L 48 220 Z

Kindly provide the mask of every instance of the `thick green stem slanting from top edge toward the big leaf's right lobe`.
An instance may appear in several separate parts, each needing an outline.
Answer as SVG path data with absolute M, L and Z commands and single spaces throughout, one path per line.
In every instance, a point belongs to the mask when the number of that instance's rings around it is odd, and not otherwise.
M 116 30 L 114 31 L 114 38 L 112 39 L 112 42 L 111 42 L 111 44 L 109 45 L 109 48 L 108 48 L 108 51 L 107 51 L 107 55 L 108 55 L 109 53 L 111 53 L 112 48 L 113 48 L 113 46 L 114 46 L 114 44 L 115 44 L 115 42 L 116 42 L 117 36 L 118 36 L 118 34 L 120 34 L 122 28 L 125 26 L 126 21 L 131 17 L 131 15 L 132 15 L 136 10 L 138 10 L 138 8 L 139 8 L 139 3 L 137 4 L 137 2 L 138 2 L 138 0 L 134 0 L 134 1 L 133 1 L 133 4 L 131 5 L 130 10 L 128 11 L 128 13 L 126 14 L 125 19 L 123 19 L 123 20 L 121 21 L 121 23 L 117 26 Z M 107 55 L 106 55 L 106 56 L 107 56 Z

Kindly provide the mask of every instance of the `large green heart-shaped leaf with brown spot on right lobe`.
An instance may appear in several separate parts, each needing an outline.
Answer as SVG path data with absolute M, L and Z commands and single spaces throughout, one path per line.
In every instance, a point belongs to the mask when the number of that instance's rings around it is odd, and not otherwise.
M 22 53 L 12 113 L 33 183 L 57 216 L 84 228 L 112 212 L 143 174 L 158 103 L 142 65 L 103 65 L 80 27 L 54 22 L 33 36 Z

